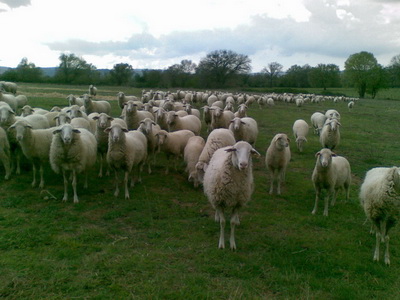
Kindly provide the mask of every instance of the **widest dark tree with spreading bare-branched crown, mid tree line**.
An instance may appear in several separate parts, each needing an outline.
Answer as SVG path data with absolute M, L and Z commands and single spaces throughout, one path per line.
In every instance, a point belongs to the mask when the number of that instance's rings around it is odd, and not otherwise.
M 209 86 L 225 87 L 227 83 L 235 84 L 237 75 L 251 71 L 251 60 L 247 55 L 231 50 L 215 50 L 200 60 L 197 74 Z

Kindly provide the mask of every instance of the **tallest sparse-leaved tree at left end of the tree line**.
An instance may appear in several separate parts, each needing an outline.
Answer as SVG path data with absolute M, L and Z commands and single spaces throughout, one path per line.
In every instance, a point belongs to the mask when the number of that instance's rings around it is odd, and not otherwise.
M 61 54 L 56 78 L 64 83 L 94 83 L 99 74 L 96 67 L 75 54 Z

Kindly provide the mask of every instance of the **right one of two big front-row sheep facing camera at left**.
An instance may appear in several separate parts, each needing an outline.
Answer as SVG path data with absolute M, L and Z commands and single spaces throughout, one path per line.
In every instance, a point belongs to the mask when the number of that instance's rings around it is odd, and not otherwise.
M 128 131 L 127 128 L 119 124 L 114 124 L 105 129 L 109 134 L 107 162 L 115 172 L 115 192 L 118 197 L 118 171 L 124 171 L 125 199 L 130 199 L 128 190 L 128 180 L 133 169 L 137 169 L 138 181 L 141 182 L 141 171 L 143 164 L 147 159 L 147 139 L 144 134 L 138 130 Z M 135 177 L 132 176 L 131 186 L 135 183 Z

